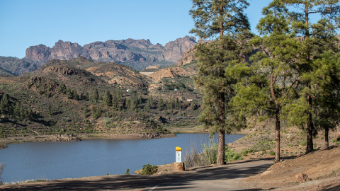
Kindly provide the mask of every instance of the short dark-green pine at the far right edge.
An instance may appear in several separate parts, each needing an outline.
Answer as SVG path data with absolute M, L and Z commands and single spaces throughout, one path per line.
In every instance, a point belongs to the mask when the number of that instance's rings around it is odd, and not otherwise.
M 319 84 L 313 94 L 314 126 L 324 130 L 324 149 L 328 149 L 329 130 L 340 123 L 340 54 L 329 51 L 320 56 L 314 62 L 318 67 L 313 83 Z

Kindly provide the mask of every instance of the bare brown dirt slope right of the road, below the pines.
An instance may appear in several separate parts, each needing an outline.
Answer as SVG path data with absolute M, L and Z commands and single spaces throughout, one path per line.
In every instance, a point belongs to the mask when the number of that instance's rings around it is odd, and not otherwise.
M 298 174 L 310 180 L 297 183 Z M 265 172 L 245 178 L 244 187 L 261 190 L 340 190 L 340 146 L 285 159 Z

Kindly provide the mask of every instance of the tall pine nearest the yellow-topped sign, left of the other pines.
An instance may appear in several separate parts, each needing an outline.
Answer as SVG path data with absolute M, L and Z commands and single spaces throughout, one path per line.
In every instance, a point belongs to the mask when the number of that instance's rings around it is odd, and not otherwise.
M 232 96 L 230 87 L 234 81 L 227 80 L 226 67 L 244 59 L 237 38 L 249 36 L 249 23 L 243 13 L 248 5 L 245 0 L 193 0 L 190 11 L 195 24 L 191 33 L 200 39 L 218 37 L 210 45 L 200 43 L 196 47 L 198 76 L 195 79 L 205 94 L 199 120 L 205 123 L 210 132 L 219 134 L 217 165 L 225 163 L 225 132 L 232 129 L 227 125 L 226 108 Z M 239 39 L 239 42 L 242 40 Z

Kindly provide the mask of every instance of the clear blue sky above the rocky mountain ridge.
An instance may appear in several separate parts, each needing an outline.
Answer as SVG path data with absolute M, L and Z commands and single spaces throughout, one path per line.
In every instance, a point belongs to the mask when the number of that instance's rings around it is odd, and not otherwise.
M 255 33 L 270 0 L 251 0 L 246 10 Z M 25 57 L 33 45 L 58 40 L 85 45 L 127 38 L 152 44 L 176 40 L 193 28 L 191 0 L 0 0 L 0 56 Z

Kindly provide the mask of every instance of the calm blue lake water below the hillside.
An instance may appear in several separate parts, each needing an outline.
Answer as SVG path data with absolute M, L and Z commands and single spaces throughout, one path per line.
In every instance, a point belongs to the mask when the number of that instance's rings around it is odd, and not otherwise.
M 125 174 L 143 165 L 174 163 L 175 148 L 182 148 L 182 158 L 191 146 L 199 150 L 210 144 L 209 134 L 177 134 L 164 139 L 87 139 L 77 142 L 30 142 L 8 144 L 0 149 L 0 163 L 5 163 L 5 183 L 37 179 L 81 178 L 84 176 Z M 244 137 L 227 134 L 226 143 Z M 217 136 L 213 139 L 217 142 Z M 182 159 L 183 160 L 183 159 Z

